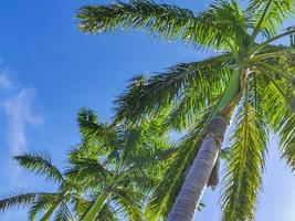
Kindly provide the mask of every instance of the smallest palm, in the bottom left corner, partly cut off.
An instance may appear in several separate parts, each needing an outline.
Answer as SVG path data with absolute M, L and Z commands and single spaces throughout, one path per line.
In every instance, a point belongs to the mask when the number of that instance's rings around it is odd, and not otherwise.
M 14 157 L 21 167 L 36 175 L 45 177 L 46 181 L 54 181 L 59 186 L 56 192 L 29 192 L 9 196 L 0 200 L 0 210 L 7 210 L 11 207 L 28 207 L 29 220 L 35 220 L 36 215 L 44 211 L 40 221 L 49 220 L 55 212 L 56 221 L 73 220 L 69 208 L 69 201 L 72 198 L 74 189 L 62 175 L 62 172 L 51 162 L 49 156 L 40 154 L 24 152 Z

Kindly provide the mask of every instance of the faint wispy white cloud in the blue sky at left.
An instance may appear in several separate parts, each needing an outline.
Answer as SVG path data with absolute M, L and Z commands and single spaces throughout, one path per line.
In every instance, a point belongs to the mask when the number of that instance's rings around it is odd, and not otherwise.
M 3 92 L 0 108 L 7 116 L 8 127 L 7 147 L 9 162 L 6 165 L 6 170 L 10 172 L 9 187 L 10 189 L 19 188 L 21 170 L 19 166 L 11 161 L 11 157 L 28 150 L 28 127 L 43 123 L 42 115 L 36 110 L 36 91 L 32 87 L 17 86 L 17 83 L 9 78 L 9 73 L 0 71 L 0 94 Z M 11 172 L 13 171 L 13 172 Z

